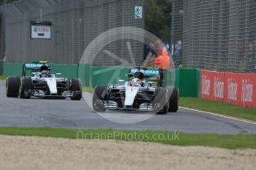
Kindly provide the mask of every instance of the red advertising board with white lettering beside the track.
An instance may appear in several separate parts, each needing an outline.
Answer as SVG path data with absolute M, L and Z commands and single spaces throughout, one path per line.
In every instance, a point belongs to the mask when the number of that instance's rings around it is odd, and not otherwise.
M 200 98 L 256 108 L 256 74 L 202 70 Z

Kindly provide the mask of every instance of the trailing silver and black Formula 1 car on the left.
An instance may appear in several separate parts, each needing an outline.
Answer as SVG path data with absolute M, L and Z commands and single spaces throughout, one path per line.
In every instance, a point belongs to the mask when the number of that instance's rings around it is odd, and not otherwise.
M 13 98 L 82 98 L 82 82 L 79 78 L 58 78 L 60 73 L 50 73 L 50 63 L 39 61 L 23 65 L 22 78 L 9 76 L 6 81 L 6 95 Z M 33 76 L 26 76 L 27 70 Z

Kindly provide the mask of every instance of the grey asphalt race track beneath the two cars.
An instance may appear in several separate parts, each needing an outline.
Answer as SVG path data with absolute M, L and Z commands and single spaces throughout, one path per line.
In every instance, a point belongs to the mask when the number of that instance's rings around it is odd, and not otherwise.
M 114 114 L 122 117 L 124 113 L 115 112 Z M 114 123 L 93 112 L 85 99 L 70 101 L 70 99 L 7 98 L 5 81 L 0 81 L 0 126 L 153 129 L 188 133 L 256 134 L 256 125 L 254 124 L 206 115 L 188 109 L 179 109 L 177 113 L 168 113 L 168 115 L 154 115 L 139 123 Z

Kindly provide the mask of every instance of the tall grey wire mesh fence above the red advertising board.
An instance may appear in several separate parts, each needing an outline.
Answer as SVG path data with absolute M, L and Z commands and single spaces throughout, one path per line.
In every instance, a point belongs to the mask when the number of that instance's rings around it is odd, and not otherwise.
M 255 0 L 174 0 L 174 60 L 182 67 L 256 72 Z

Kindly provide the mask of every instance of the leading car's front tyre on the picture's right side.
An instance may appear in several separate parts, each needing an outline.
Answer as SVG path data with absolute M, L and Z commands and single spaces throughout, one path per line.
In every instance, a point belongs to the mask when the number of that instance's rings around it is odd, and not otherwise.
M 158 87 L 154 93 L 153 103 L 160 103 L 160 108 L 156 110 L 157 115 L 165 115 L 168 112 L 168 90 Z

